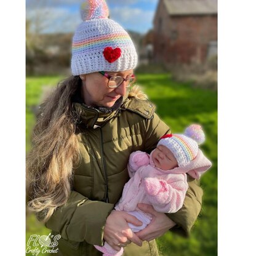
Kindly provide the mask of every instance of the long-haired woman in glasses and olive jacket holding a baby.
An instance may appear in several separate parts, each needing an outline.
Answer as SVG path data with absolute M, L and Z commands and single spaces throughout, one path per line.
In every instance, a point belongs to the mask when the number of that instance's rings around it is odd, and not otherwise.
M 142 223 L 113 210 L 129 178 L 130 153 L 150 153 L 169 127 L 141 92 L 129 91 L 137 53 L 129 34 L 108 18 L 105 1 L 84 2 L 81 14 L 84 22 L 73 38 L 73 76 L 41 106 L 34 129 L 27 160 L 29 206 L 52 234 L 61 235 L 58 255 L 101 255 L 93 245 L 102 246 L 103 239 L 116 250 L 124 247 L 126 256 L 158 255 L 155 238 L 175 225 L 190 231 L 202 190 L 189 180 L 175 214 L 139 205 L 154 218 L 136 234 L 127 222 Z

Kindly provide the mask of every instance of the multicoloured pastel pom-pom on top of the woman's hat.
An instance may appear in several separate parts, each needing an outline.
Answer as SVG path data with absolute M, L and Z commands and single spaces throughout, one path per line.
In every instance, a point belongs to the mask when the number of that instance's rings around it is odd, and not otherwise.
M 84 22 L 96 18 L 108 18 L 108 15 L 105 0 L 86 0 L 81 4 L 81 18 Z

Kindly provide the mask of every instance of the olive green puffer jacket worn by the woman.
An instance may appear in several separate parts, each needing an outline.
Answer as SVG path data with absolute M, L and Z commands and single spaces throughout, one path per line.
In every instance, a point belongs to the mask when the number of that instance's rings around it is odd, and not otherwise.
M 154 113 L 148 100 L 128 97 L 121 107 L 103 114 L 83 103 L 74 103 L 80 113 L 78 124 L 81 163 L 74 169 L 73 190 L 68 202 L 59 207 L 46 223 L 52 234 L 60 234 L 58 255 L 98 256 L 94 248 L 103 246 L 103 228 L 129 180 L 127 162 L 136 150 L 151 150 L 169 127 Z M 186 234 L 201 210 L 202 190 L 196 181 L 178 212 L 168 214 Z M 57 254 L 55 254 L 57 255 Z M 143 242 L 142 247 L 130 244 L 124 256 L 158 255 L 156 242 Z

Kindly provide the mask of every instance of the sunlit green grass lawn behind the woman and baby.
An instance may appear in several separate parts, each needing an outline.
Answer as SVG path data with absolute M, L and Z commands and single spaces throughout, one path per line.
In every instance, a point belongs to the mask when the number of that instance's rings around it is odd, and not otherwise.
M 35 122 L 33 108 L 41 100 L 44 88 L 55 86 L 60 79 L 57 76 L 26 79 L 26 151 L 30 150 L 30 135 Z M 204 190 L 202 211 L 190 237 L 166 233 L 157 239 L 161 254 L 217 255 L 217 92 L 175 82 L 170 74 L 137 74 L 137 82 L 156 104 L 156 112 L 172 132 L 182 133 L 186 126 L 194 122 L 202 125 L 206 143 L 201 148 L 213 163 L 209 172 L 201 178 Z M 26 226 L 26 239 L 31 234 L 49 234 L 49 230 L 37 222 L 33 214 L 27 215 Z

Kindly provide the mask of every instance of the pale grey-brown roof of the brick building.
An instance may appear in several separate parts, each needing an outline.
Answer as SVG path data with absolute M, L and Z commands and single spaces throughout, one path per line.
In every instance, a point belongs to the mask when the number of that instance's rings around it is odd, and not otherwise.
M 217 14 L 217 0 L 164 0 L 170 15 Z

